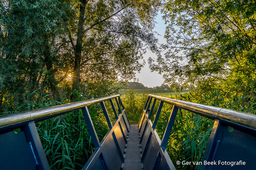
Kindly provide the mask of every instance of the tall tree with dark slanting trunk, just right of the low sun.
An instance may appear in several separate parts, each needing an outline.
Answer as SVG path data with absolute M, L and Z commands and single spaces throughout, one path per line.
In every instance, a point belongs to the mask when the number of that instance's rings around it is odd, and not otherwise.
M 156 50 L 152 29 L 159 5 L 158 0 L 80 0 L 78 15 L 67 20 L 72 89 L 79 90 L 81 72 L 88 75 L 86 81 L 134 77 L 143 65 L 138 61 L 144 46 Z

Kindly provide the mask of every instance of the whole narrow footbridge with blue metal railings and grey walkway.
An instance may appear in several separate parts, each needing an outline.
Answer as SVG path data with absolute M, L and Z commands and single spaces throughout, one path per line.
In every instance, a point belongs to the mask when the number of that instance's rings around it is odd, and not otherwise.
M 152 123 L 150 118 L 157 100 L 160 102 Z M 113 124 L 106 110 L 106 101 L 111 103 L 115 114 Z M 109 126 L 101 142 L 87 108 L 97 103 L 100 103 Z M 161 140 L 155 128 L 164 103 L 173 107 Z M 95 146 L 82 170 L 175 170 L 176 162 L 170 159 L 166 146 L 179 109 L 214 120 L 202 160 L 206 164 L 200 166 L 201 170 L 251 170 L 256 167 L 256 115 L 149 94 L 138 125 L 130 125 L 120 95 L 0 116 L 0 170 L 49 170 L 35 122 L 79 109 Z M 17 128 L 21 132 L 13 133 Z M 230 166 L 218 164 L 218 161 L 245 164 Z M 217 162 L 217 165 L 211 162 Z

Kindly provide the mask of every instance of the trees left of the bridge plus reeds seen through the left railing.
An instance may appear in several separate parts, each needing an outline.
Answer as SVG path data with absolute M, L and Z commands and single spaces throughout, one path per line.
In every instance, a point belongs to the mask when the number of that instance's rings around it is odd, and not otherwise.
M 160 5 L 159 0 L 1 0 L 0 113 L 117 94 L 122 85 L 116 79 L 132 79 L 144 65 L 146 48 L 156 51 L 153 18 Z M 101 140 L 106 120 L 99 106 L 89 111 Z M 79 111 L 36 126 L 53 170 L 81 169 L 94 150 Z

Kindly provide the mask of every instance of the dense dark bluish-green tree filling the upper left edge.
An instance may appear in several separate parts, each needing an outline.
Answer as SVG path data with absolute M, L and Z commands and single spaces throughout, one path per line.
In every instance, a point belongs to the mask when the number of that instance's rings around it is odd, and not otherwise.
M 61 3 L 2 0 L 0 9 L 0 108 L 39 88 L 56 92 L 54 39 Z

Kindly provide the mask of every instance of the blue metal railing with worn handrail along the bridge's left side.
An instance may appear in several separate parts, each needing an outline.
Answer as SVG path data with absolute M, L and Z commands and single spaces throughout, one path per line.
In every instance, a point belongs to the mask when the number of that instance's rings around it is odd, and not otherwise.
M 115 99 L 118 106 L 119 116 L 112 99 Z M 104 104 L 107 100 L 111 103 L 116 118 L 113 125 Z M 109 126 L 109 132 L 101 142 L 87 108 L 96 103 L 100 103 Z M 94 153 L 82 169 L 120 169 L 124 162 L 124 148 L 130 124 L 120 95 L 115 95 L 0 116 L 0 170 L 49 170 L 35 122 L 78 109 L 82 109 L 95 146 Z M 20 128 L 21 132 L 15 134 L 13 130 L 17 128 Z

